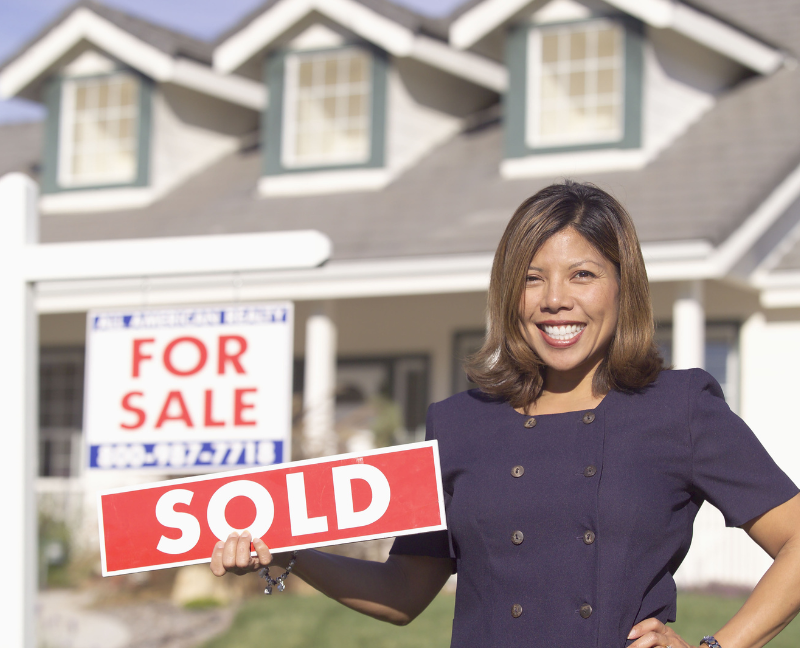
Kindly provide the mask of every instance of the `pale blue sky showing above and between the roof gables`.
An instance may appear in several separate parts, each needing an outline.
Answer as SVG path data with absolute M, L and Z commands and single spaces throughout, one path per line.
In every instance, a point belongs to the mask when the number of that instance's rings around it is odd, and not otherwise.
M 429 16 L 448 14 L 465 0 L 392 0 Z M 264 0 L 106 0 L 154 23 L 212 40 Z M 0 61 L 16 53 L 66 10 L 72 0 L 0 0 Z M 41 106 L 21 100 L 0 101 L 0 123 L 41 119 Z

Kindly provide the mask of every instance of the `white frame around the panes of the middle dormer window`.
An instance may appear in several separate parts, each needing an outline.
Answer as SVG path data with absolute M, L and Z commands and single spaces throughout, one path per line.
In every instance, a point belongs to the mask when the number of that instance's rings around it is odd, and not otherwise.
M 359 155 L 339 155 L 314 160 L 298 160 L 295 145 L 297 142 L 297 123 L 295 121 L 295 106 L 297 105 L 297 95 L 299 91 L 299 67 L 303 59 L 317 58 L 324 56 L 342 56 L 343 54 L 357 53 L 365 56 L 367 60 L 367 71 L 365 75 L 366 84 L 366 134 L 367 142 L 364 153 Z M 362 48 L 348 47 L 326 51 L 307 51 L 293 52 L 286 55 L 283 94 L 283 128 L 281 129 L 281 164 L 287 169 L 321 168 L 361 165 L 369 162 L 372 156 L 372 138 L 374 116 L 373 110 L 373 66 L 375 62 L 368 52 Z

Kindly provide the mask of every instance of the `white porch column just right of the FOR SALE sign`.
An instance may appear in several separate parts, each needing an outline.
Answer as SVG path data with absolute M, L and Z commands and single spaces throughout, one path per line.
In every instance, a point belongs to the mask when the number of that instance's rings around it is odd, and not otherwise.
M 336 454 L 336 324 L 333 302 L 325 302 L 306 321 L 305 385 L 303 387 L 303 454 Z

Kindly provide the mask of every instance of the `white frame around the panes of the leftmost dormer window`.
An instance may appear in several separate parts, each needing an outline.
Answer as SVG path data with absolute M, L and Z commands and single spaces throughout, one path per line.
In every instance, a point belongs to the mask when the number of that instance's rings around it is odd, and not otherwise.
M 79 83 L 86 81 L 105 81 L 111 82 L 115 79 L 124 78 L 132 80 L 137 86 L 137 101 L 134 104 L 136 107 L 135 128 L 133 133 L 133 141 L 135 142 L 134 148 L 134 166 L 131 173 L 125 176 L 108 177 L 108 178 L 76 178 L 72 173 L 72 157 L 75 152 L 74 148 L 74 128 L 75 128 L 75 93 Z M 126 185 L 134 182 L 138 176 L 138 157 L 141 154 L 140 149 L 140 129 L 141 129 L 141 93 L 143 92 L 142 82 L 136 76 L 126 72 L 115 72 L 113 74 L 103 77 L 72 77 L 66 78 L 61 85 L 61 101 L 60 101 L 60 115 L 59 115 L 59 136 L 58 136 L 58 185 L 65 188 L 77 187 L 98 187 L 106 185 Z

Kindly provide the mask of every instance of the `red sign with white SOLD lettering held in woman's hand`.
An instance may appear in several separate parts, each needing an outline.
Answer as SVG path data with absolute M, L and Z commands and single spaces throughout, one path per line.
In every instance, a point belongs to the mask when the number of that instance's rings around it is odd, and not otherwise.
M 103 576 L 209 562 L 249 530 L 288 551 L 445 529 L 436 441 L 98 495 Z

